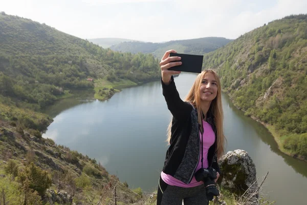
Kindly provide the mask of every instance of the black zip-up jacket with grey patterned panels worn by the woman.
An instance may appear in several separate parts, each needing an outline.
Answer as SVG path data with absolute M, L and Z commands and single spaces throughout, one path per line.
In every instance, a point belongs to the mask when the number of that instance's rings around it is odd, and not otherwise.
M 173 76 L 169 85 L 165 85 L 162 79 L 161 84 L 167 108 L 173 116 L 170 146 L 162 171 L 184 183 L 190 183 L 198 166 L 201 150 L 198 113 L 194 106 L 180 98 Z M 207 113 L 207 122 L 215 133 L 215 142 L 208 151 L 208 165 L 221 174 L 215 152 L 216 127 L 210 111 Z

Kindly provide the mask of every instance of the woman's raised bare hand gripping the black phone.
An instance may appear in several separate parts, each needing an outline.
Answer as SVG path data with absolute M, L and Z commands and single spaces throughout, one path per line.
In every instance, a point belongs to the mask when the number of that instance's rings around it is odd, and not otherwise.
M 162 81 L 165 85 L 168 85 L 170 83 L 169 81 L 172 75 L 181 73 L 180 71 L 168 70 L 171 67 L 179 66 L 182 64 L 182 62 L 172 62 L 172 61 L 181 60 L 181 57 L 178 56 L 169 57 L 170 53 L 177 53 L 177 51 L 175 50 L 166 51 L 160 62 Z

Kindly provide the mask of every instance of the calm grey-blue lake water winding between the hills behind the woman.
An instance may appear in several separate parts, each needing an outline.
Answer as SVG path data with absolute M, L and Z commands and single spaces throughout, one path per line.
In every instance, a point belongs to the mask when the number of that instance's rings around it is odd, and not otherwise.
M 182 98 L 195 76 L 175 78 Z M 267 129 L 244 116 L 225 94 L 223 108 L 227 151 L 247 151 L 260 179 L 269 172 L 264 191 L 276 204 L 305 204 L 307 163 L 281 153 Z M 65 99 L 46 112 L 54 122 L 43 137 L 95 158 L 129 188 L 157 189 L 171 119 L 160 81 L 123 89 L 106 101 Z

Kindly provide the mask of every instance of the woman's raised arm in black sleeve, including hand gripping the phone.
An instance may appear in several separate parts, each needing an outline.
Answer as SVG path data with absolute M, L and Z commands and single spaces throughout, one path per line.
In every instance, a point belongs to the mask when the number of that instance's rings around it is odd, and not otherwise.
M 192 106 L 189 103 L 184 102 L 176 89 L 176 85 L 174 83 L 174 78 L 172 75 L 180 74 L 180 71 L 171 71 L 168 70 L 173 66 L 181 65 L 181 62 L 172 62 L 175 60 L 180 60 L 181 58 L 178 56 L 169 57 L 170 53 L 176 53 L 174 50 L 169 50 L 165 52 L 161 62 L 161 84 L 163 90 L 163 96 L 165 98 L 167 108 L 171 112 L 174 118 L 177 119 L 186 119 L 190 116 L 192 111 Z

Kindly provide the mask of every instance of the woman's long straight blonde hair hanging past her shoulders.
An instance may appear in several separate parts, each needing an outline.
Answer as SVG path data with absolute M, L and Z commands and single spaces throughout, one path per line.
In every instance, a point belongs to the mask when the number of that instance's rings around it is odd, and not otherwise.
M 213 114 L 213 120 L 215 121 L 215 126 L 216 126 L 216 134 L 217 134 L 217 158 L 220 159 L 223 154 L 224 154 L 224 142 L 225 142 L 225 136 L 224 136 L 224 130 L 223 130 L 223 107 L 222 107 L 222 89 L 221 89 L 221 82 L 220 82 L 220 77 L 218 77 L 217 73 L 213 70 L 204 70 L 202 73 L 200 73 L 194 83 L 193 86 L 191 87 L 189 93 L 185 97 L 185 101 L 190 102 L 191 104 L 194 105 L 198 112 L 198 122 L 200 125 L 202 125 L 202 120 L 203 120 L 203 114 L 202 114 L 202 109 L 201 109 L 201 97 L 200 97 L 200 88 L 202 85 L 202 80 L 206 73 L 212 73 L 216 79 L 216 84 L 217 84 L 217 94 L 216 97 L 212 100 L 210 108 L 208 112 L 212 112 Z M 167 128 L 167 142 L 168 144 L 170 143 L 170 138 L 171 138 L 171 126 L 172 126 L 172 120 L 170 121 L 168 128 Z

